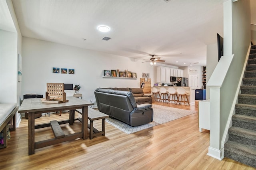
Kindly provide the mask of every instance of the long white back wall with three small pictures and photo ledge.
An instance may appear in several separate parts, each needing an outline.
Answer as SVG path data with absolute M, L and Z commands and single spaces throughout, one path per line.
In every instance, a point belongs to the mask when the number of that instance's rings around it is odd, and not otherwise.
M 75 69 L 75 74 L 52 73 L 52 67 Z M 102 78 L 104 70 L 120 69 L 137 73 L 137 79 Z M 90 51 L 78 47 L 22 38 L 22 95 L 45 96 L 46 83 L 80 84 L 84 100 L 95 103 L 97 87 L 140 88 L 142 73 L 150 73 L 154 83 L 154 67 L 142 60 Z M 96 104 L 96 103 L 95 103 Z

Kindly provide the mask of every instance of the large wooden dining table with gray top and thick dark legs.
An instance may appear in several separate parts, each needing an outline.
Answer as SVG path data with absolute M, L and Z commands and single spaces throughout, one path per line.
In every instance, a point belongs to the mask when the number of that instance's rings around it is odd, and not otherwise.
M 88 101 L 84 101 L 82 99 L 78 99 L 76 97 L 66 97 L 68 102 L 66 103 L 42 103 L 40 98 L 35 99 L 24 99 L 22 102 L 22 105 L 20 106 L 20 109 L 18 113 L 26 113 L 28 112 L 28 154 L 34 154 L 35 149 L 43 148 L 45 146 L 50 146 L 53 144 L 58 144 L 61 142 L 65 142 L 68 140 L 74 140 L 76 138 L 88 138 L 88 106 L 93 105 L 93 103 L 90 103 Z M 55 138 L 42 140 L 35 142 L 35 129 L 37 128 L 44 128 L 44 127 L 50 127 L 52 125 L 53 131 L 57 128 L 57 130 L 60 130 L 60 127 L 56 127 L 56 123 L 46 123 L 46 124 L 40 124 L 35 125 L 35 114 L 37 113 L 47 113 L 47 112 L 56 112 L 56 111 L 63 111 L 63 110 L 69 110 L 69 119 L 65 121 L 58 121 L 59 125 L 69 123 L 69 125 L 73 125 L 75 121 L 75 109 L 82 109 L 82 129 L 81 132 L 68 134 L 68 135 L 62 135 Z M 54 124 L 54 126 L 53 126 Z M 55 128 L 54 128 L 55 127 Z M 55 133 L 54 133 L 55 135 Z

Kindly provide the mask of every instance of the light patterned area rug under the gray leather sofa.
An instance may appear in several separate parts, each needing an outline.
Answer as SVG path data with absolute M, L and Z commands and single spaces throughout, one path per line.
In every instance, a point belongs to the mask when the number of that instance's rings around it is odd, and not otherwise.
M 156 125 L 160 125 L 160 124 L 196 113 L 195 111 L 176 109 L 173 107 L 166 107 L 166 106 L 154 105 L 154 104 L 152 105 L 152 108 L 154 110 L 153 122 L 150 122 L 145 125 L 132 127 L 130 125 L 127 125 L 126 123 L 123 123 L 121 121 L 118 121 L 116 119 L 111 119 L 111 118 L 106 118 L 106 122 L 110 123 L 114 127 L 119 128 L 123 132 L 130 134 L 130 133 L 138 132 L 146 128 L 154 127 Z

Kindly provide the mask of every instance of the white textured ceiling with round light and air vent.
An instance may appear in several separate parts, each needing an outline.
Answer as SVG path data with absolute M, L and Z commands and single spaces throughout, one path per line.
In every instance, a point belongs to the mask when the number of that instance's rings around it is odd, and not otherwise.
M 206 65 L 206 45 L 223 35 L 223 2 L 12 0 L 22 36 L 135 59 L 158 54 L 177 66 Z

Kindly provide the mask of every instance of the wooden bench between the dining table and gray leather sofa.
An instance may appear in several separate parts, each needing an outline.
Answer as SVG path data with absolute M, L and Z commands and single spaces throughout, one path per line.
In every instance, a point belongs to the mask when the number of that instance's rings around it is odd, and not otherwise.
M 77 111 L 77 110 L 76 110 Z M 81 114 L 80 111 L 77 111 Z M 94 136 L 105 136 L 105 120 L 108 117 L 105 113 L 101 113 L 100 111 L 96 111 L 94 109 L 88 108 L 88 119 L 90 120 L 90 124 L 88 124 L 88 128 L 90 128 L 90 139 Z M 78 121 L 82 122 L 82 118 L 78 117 Z M 99 131 L 93 127 L 93 121 L 102 119 L 102 130 Z

